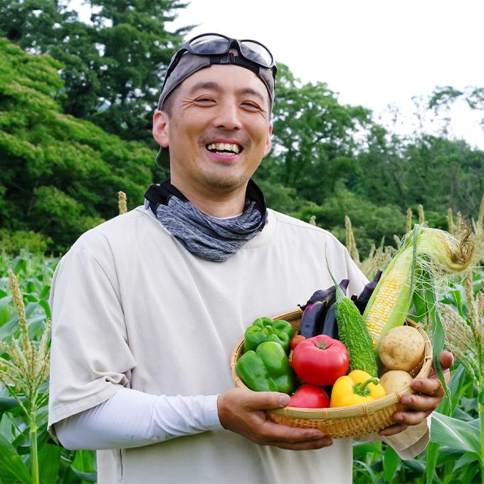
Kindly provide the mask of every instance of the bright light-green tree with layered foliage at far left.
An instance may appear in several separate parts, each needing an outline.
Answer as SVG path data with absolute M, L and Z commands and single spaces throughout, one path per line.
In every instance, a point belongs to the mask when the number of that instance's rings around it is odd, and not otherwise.
M 65 115 L 49 56 L 0 39 L 0 226 L 51 237 L 58 251 L 117 214 L 117 191 L 131 208 L 152 182 L 155 152 Z

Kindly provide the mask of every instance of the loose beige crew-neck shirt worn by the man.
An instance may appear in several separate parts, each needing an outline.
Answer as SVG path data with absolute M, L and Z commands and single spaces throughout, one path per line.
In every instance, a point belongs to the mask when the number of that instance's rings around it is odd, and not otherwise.
M 231 389 L 230 357 L 246 327 L 332 285 L 325 246 L 335 278 L 350 280 L 348 295 L 361 292 L 364 276 L 335 237 L 274 211 L 268 216 L 262 233 L 224 263 L 192 256 L 143 207 L 85 233 L 53 278 L 51 431 L 122 386 L 169 396 Z M 406 433 L 404 448 L 425 446 L 424 431 Z M 98 478 L 100 484 L 351 483 L 352 439 L 296 453 L 220 429 L 98 451 Z

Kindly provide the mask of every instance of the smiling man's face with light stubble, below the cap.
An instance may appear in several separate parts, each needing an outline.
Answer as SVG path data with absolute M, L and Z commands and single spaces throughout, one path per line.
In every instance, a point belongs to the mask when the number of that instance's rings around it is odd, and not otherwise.
M 269 98 L 255 73 L 212 65 L 172 94 L 172 115 L 154 117 L 154 137 L 169 146 L 172 184 L 199 193 L 245 189 L 270 151 Z

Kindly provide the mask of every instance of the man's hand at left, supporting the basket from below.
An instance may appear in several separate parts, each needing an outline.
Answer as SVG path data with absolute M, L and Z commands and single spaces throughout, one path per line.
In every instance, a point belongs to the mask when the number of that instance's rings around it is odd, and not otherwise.
M 332 445 L 332 439 L 317 428 L 294 428 L 271 422 L 266 409 L 289 404 L 289 395 L 275 391 L 231 389 L 217 401 L 220 423 L 261 446 L 306 451 Z

